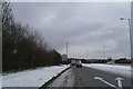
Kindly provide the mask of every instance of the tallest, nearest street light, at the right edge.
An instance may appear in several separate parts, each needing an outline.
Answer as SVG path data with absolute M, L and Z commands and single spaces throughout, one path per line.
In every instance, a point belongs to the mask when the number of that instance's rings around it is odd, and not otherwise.
M 130 29 L 130 43 L 131 43 L 131 59 L 133 59 L 133 42 L 132 42 L 132 30 L 131 30 L 131 20 L 127 19 L 127 18 L 120 18 L 120 20 L 127 20 L 127 23 L 129 23 L 129 29 Z

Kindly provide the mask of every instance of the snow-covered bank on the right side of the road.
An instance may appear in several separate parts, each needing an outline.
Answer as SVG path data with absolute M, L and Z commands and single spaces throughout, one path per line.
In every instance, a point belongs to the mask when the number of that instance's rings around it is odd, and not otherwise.
M 84 67 L 115 73 L 117 76 L 131 78 L 131 67 L 130 66 L 116 66 L 116 65 L 101 65 L 101 63 L 91 63 L 84 65 Z

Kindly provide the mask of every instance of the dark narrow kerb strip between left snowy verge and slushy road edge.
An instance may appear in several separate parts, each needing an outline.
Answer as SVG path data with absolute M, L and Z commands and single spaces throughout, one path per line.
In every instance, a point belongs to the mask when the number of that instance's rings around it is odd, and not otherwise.
M 68 69 L 70 69 L 71 67 L 64 69 L 63 71 L 61 71 L 58 76 L 51 78 L 48 82 L 45 82 L 43 86 L 41 86 L 39 89 L 47 89 L 47 87 L 52 83 L 59 76 L 61 76 L 63 72 L 65 72 Z

